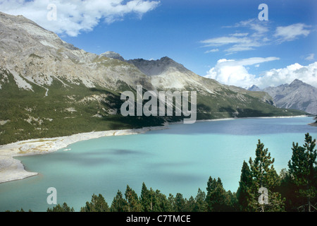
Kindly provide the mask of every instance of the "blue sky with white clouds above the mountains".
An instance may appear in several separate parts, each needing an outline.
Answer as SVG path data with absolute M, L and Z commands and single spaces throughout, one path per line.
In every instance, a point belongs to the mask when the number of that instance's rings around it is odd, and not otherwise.
M 0 0 L 0 11 L 87 52 L 170 57 L 242 88 L 296 78 L 317 87 L 316 9 L 316 0 Z

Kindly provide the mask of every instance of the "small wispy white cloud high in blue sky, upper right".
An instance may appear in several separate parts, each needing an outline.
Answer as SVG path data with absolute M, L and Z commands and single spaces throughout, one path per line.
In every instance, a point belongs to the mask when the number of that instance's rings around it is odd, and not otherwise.
M 304 23 L 295 23 L 285 27 L 278 27 L 275 30 L 275 37 L 280 38 L 280 42 L 292 41 L 297 39 L 299 36 L 306 37 L 311 32 L 305 28 L 309 28 L 308 25 Z

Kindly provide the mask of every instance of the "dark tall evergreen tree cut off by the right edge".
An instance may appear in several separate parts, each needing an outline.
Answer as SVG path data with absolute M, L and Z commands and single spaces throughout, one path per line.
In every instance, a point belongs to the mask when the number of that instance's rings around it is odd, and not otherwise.
M 306 133 L 304 147 L 293 143 L 292 158 L 288 162 L 292 181 L 297 185 L 297 196 L 306 199 L 306 208 L 302 206 L 302 209 L 309 212 L 312 208 L 316 209 L 311 203 L 317 194 L 315 174 L 317 150 L 314 149 L 315 146 L 316 139 L 313 140 L 309 133 Z

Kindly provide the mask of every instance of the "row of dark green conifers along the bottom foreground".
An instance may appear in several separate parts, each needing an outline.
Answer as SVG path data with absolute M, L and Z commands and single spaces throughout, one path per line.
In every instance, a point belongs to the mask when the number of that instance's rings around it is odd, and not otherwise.
M 225 191 L 220 178 L 211 178 L 206 190 L 184 198 L 178 193 L 166 196 L 142 184 L 140 196 L 129 186 L 118 191 L 111 203 L 102 194 L 92 195 L 80 212 L 316 212 L 317 167 L 316 139 L 305 134 L 304 145 L 292 144 L 288 169 L 280 174 L 274 158 L 264 144 L 256 144 L 255 157 L 242 163 L 237 192 Z M 29 210 L 32 211 L 32 210 Z M 23 209 L 17 212 L 24 212 Z M 67 203 L 46 212 L 75 212 Z

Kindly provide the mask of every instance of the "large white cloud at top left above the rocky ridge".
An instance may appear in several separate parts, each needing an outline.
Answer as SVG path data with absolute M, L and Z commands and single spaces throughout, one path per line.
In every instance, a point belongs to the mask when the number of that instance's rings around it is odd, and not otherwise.
M 1 0 L 0 8 L 4 13 L 23 15 L 47 30 L 77 36 L 82 31 L 93 30 L 102 21 L 123 20 L 129 13 L 141 18 L 159 3 L 149 0 Z M 56 6 L 56 20 L 47 19 L 49 4 Z

